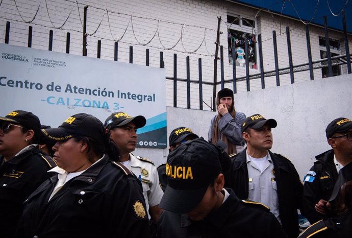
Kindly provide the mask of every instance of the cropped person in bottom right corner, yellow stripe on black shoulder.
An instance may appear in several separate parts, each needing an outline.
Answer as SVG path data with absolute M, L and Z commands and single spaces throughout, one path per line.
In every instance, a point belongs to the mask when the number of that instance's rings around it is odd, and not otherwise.
M 341 190 L 341 192 L 340 192 Z M 340 199 L 336 199 L 339 196 Z M 330 202 L 338 203 L 339 217 L 320 220 L 299 235 L 299 238 L 352 237 L 352 162 L 341 168 L 332 191 Z

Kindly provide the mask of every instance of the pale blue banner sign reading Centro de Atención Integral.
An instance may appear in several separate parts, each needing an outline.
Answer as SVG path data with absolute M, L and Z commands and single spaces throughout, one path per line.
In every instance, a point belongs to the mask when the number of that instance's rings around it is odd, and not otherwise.
M 166 148 L 165 69 L 0 43 L 0 116 L 31 111 L 57 127 L 88 113 L 143 115 L 138 147 Z

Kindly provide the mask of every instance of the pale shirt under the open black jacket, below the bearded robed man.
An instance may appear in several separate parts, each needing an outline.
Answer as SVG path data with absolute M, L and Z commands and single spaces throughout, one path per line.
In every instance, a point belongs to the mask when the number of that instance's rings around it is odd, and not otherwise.
M 262 168 L 258 168 L 257 164 L 252 161 L 256 158 L 251 157 L 248 153 L 246 155 L 248 170 L 248 199 L 263 203 L 270 207 L 271 213 L 273 213 L 276 219 L 281 223 L 274 164 L 269 153 L 264 158 L 265 161 L 260 162 L 262 163 Z

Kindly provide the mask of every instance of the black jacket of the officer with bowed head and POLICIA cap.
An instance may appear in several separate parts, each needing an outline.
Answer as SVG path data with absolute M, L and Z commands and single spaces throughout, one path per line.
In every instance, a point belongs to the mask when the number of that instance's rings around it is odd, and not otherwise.
M 228 199 L 202 221 L 164 210 L 158 220 L 158 237 L 285 238 L 280 223 L 261 204 L 239 200 L 230 188 Z

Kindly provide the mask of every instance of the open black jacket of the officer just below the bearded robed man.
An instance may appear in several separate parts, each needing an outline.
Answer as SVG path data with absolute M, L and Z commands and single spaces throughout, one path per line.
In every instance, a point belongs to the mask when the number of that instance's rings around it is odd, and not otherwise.
M 239 199 L 248 198 L 246 151 L 247 149 L 244 149 L 232 161 L 228 183 Z M 278 187 L 281 224 L 288 237 L 297 237 L 299 233 L 297 209 L 302 207 L 303 184 L 290 160 L 270 151 L 269 154 L 274 164 L 274 174 Z

